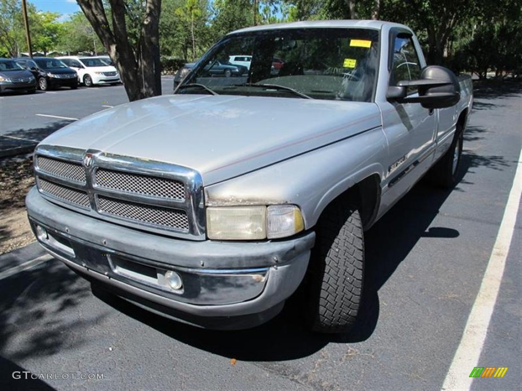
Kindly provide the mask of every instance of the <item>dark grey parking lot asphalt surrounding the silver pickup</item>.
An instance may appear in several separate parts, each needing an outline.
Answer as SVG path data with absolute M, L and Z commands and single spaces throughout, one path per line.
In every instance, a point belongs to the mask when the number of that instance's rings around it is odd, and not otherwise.
M 82 95 L 91 110 L 100 101 L 94 95 Z M 68 101 L 56 100 L 48 113 L 60 115 L 56 108 Z M 73 109 L 62 113 L 73 116 Z M 11 126 L 10 112 L 2 114 Z M 292 301 L 251 330 L 197 329 L 43 260 L 0 279 L 0 389 L 441 389 L 495 253 L 521 135 L 522 91 L 476 91 L 458 186 L 442 191 L 422 180 L 366 234 L 365 302 L 350 334 L 307 332 Z M 473 347 L 475 366 L 508 370 L 503 378 L 474 378 L 471 389 L 521 389 L 521 209 L 518 203 L 509 211 L 517 217 L 499 296 L 483 347 Z M 473 368 L 457 370 L 458 380 L 468 380 Z M 23 371 L 52 376 L 13 377 Z M 82 373 L 103 378 L 84 380 Z

